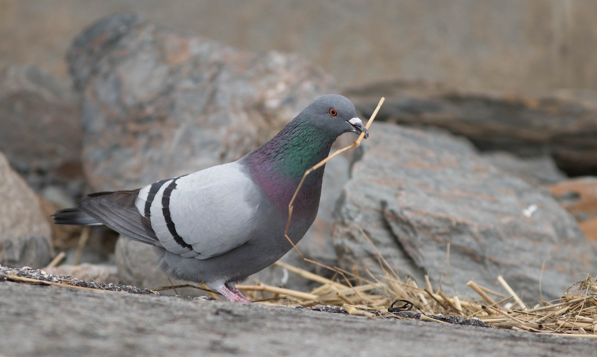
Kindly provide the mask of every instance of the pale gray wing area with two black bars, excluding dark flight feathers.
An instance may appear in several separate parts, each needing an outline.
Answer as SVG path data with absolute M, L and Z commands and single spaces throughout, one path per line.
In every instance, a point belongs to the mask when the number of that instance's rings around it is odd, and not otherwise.
M 238 162 L 158 181 L 136 200 L 159 245 L 183 257 L 219 256 L 251 238 L 260 190 Z

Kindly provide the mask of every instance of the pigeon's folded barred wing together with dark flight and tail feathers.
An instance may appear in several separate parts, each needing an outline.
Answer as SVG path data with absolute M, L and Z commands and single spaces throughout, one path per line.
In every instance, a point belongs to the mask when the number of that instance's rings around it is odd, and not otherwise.
M 101 222 L 136 241 L 207 259 L 251 239 L 262 199 L 244 167 L 231 162 L 134 191 L 94 193 L 79 203 L 82 214 L 65 210 L 55 219 Z

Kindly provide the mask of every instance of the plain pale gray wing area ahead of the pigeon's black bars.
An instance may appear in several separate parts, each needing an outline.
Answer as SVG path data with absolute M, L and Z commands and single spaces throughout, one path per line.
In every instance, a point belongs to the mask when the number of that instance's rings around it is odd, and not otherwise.
M 192 247 L 184 256 L 205 259 L 251 238 L 260 190 L 241 164 L 231 162 L 181 177 L 170 202 L 176 232 Z

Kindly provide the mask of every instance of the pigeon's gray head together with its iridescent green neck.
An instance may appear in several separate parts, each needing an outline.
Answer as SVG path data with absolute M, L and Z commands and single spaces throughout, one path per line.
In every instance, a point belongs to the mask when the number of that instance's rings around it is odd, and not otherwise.
M 314 100 L 275 137 L 241 160 L 272 202 L 280 211 L 285 211 L 305 171 L 330 154 L 338 136 L 349 132 L 365 133 L 368 137 L 352 102 L 346 97 L 328 94 Z M 324 168 L 325 165 L 304 180 L 295 201 L 294 217 L 301 216 L 303 210 L 303 216 L 315 218 Z

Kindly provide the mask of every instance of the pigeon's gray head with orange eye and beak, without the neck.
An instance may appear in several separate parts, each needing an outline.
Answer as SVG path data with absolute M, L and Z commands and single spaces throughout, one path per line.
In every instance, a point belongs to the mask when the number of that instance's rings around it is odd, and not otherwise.
M 356 134 L 365 133 L 365 139 L 369 137 L 365 125 L 356 116 L 352 101 L 338 94 L 319 97 L 303 109 L 297 118 L 309 121 L 314 128 L 334 138 L 350 131 Z

